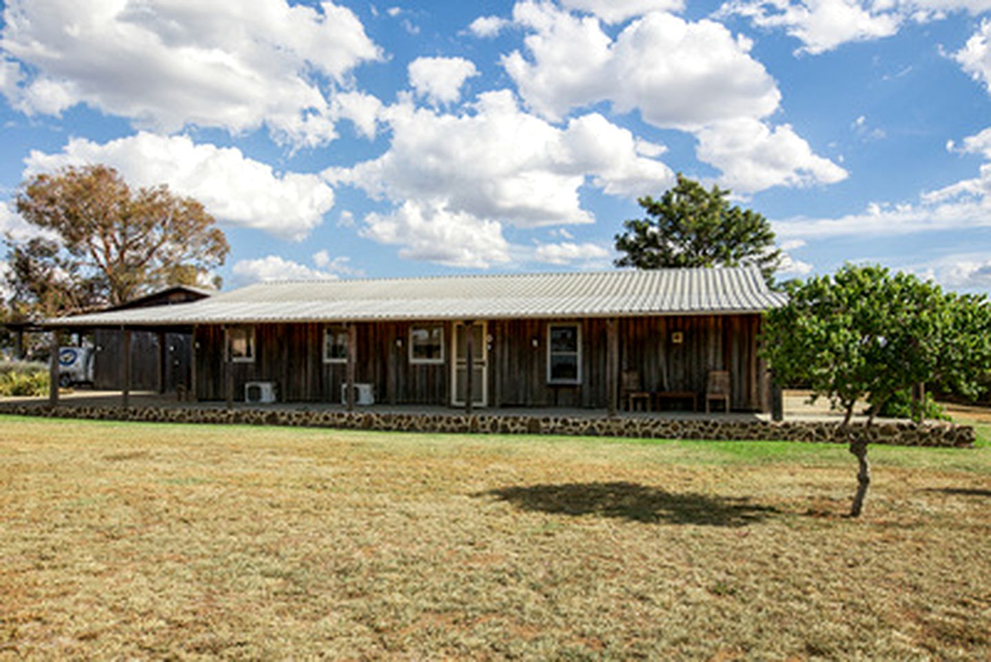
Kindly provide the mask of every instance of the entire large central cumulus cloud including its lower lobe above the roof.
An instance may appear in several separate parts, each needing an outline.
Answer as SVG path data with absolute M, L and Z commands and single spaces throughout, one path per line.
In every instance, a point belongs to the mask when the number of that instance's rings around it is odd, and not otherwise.
M 508 90 L 482 94 L 461 113 L 399 103 L 383 118 L 392 142 L 382 157 L 323 174 L 397 206 L 366 217 L 365 235 L 404 246 L 404 257 L 461 266 L 504 262 L 503 224 L 593 222 L 581 206 L 585 184 L 635 195 L 674 180 L 667 165 L 640 156 L 632 134 L 601 115 L 574 118 L 561 129 L 520 110 Z M 459 245 L 455 227 L 464 228 Z

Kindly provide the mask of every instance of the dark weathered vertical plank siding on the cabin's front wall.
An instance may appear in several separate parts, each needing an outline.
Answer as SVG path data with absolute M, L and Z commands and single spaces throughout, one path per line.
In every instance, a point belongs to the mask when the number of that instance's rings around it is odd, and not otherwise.
M 582 328 L 582 384 L 577 386 L 547 384 L 547 326 L 554 322 L 488 322 L 490 407 L 606 408 L 606 320 L 577 320 Z M 443 364 L 409 362 L 410 322 L 356 326 L 355 381 L 373 385 L 376 402 L 450 405 L 451 323 L 444 325 Z M 340 401 L 347 366 L 323 362 L 324 324 L 258 324 L 255 329 L 255 362 L 232 365 L 235 400 L 244 399 L 246 382 L 275 382 L 280 401 Z M 647 390 L 694 390 L 700 395 L 700 408 L 709 372 L 728 370 L 732 408 L 768 410 L 769 383 L 757 356 L 759 330 L 759 315 L 619 318 L 619 370 L 637 371 Z M 682 333 L 681 344 L 673 342 L 675 332 Z M 196 340 L 200 343 L 196 392 L 200 399 L 223 399 L 223 332 L 219 326 L 200 326 Z

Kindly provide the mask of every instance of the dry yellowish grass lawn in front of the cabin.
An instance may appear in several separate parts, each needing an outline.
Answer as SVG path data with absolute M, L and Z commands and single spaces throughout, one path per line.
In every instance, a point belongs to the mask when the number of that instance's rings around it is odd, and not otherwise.
M 871 458 L 0 416 L 0 659 L 991 658 L 991 445 Z

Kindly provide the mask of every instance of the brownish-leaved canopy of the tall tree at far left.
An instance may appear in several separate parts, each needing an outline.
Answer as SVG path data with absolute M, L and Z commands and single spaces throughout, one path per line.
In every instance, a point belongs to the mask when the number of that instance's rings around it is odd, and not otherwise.
M 66 167 L 21 184 L 17 211 L 40 230 L 8 239 L 15 316 L 117 305 L 195 284 L 230 250 L 203 205 L 165 185 L 132 190 L 105 165 Z

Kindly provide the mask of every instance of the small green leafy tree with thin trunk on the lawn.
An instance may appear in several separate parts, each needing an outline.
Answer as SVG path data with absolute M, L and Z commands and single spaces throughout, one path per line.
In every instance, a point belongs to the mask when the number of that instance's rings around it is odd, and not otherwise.
M 766 314 L 763 353 L 775 379 L 803 383 L 844 412 L 858 461 L 857 516 L 870 485 L 867 442 L 849 427 L 858 399 L 871 416 L 897 393 L 938 382 L 976 396 L 991 368 L 991 306 L 981 296 L 881 267 L 847 265 L 834 276 L 785 283 L 789 303 Z

